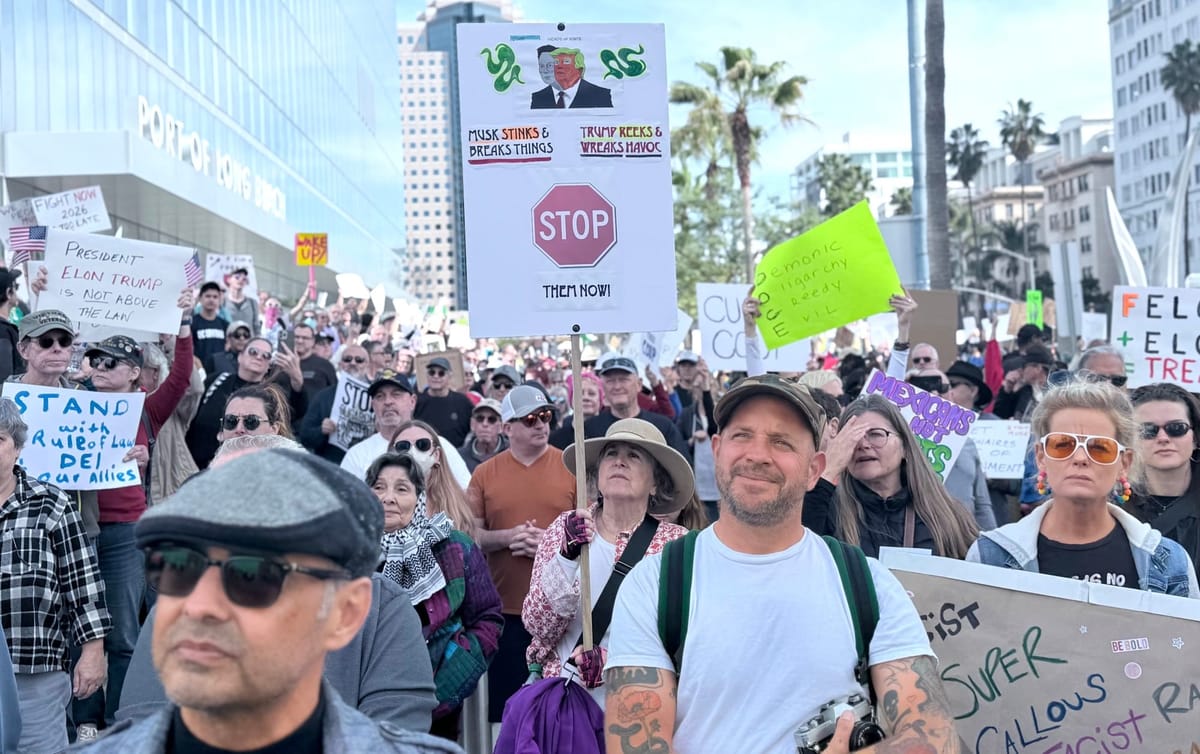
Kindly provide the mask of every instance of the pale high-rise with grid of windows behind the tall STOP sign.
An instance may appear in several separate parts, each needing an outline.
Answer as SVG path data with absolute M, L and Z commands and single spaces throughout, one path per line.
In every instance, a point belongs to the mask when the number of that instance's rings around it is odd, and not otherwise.
M 398 28 L 408 289 L 425 304 L 467 309 L 456 26 L 514 20 L 510 0 L 428 0 Z

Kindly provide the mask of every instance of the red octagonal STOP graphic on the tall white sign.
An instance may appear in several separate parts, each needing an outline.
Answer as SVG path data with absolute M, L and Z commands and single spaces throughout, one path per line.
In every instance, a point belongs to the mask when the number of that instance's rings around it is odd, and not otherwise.
M 612 202 L 589 184 L 558 184 L 533 205 L 533 243 L 558 267 L 594 267 L 617 245 Z

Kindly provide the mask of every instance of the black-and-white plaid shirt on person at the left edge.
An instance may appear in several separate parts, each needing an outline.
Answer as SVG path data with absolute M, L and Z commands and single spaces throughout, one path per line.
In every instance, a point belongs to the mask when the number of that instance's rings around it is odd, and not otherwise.
M 0 507 L 0 622 L 16 672 L 67 669 L 68 645 L 103 639 L 112 621 L 83 521 L 56 486 L 13 468 Z

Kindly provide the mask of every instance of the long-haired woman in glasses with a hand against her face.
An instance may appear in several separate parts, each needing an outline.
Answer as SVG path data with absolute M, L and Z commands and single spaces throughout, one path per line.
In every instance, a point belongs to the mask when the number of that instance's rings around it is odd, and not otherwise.
M 841 415 L 865 426 L 838 485 L 838 533 L 871 557 L 922 547 L 964 558 L 979 527 L 950 497 L 900 411 L 883 396 L 856 399 Z

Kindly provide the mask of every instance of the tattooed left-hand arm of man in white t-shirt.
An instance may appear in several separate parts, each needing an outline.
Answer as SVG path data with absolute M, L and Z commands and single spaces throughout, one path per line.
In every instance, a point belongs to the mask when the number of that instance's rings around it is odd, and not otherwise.
M 661 668 L 605 671 L 605 748 L 608 754 L 672 754 L 676 675 Z M 846 729 L 850 741 L 850 729 Z M 847 743 L 848 746 L 848 743 Z

